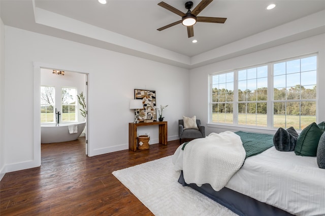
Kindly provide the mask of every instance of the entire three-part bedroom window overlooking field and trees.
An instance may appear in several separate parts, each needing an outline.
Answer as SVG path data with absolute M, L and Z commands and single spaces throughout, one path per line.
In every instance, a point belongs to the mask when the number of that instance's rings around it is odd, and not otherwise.
M 303 129 L 316 121 L 316 75 L 315 55 L 212 74 L 211 122 Z

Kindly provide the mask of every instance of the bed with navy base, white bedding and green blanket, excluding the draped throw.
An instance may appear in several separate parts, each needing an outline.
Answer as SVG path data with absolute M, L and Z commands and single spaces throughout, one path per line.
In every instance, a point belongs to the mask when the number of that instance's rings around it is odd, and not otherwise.
M 243 145 L 248 143 L 249 146 L 254 143 L 254 136 L 261 136 L 236 134 Z M 316 157 L 277 151 L 273 135 L 263 136 L 264 149 L 246 155 L 242 166 L 221 190 L 213 190 L 210 184 L 187 184 L 183 171 L 178 182 L 239 215 L 325 215 L 325 169 L 317 166 Z

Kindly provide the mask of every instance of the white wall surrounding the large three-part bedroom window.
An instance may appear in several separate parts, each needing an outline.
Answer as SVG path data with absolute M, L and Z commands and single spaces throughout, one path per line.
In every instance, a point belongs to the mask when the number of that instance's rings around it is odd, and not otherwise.
M 317 122 L 325 120 L 325 35 L 309 37 L 302 40 L 297 40 L 262 50 L 259 52 L 250 53 L 237 58 L 220 61 L 214 64 L 209 64 L 203 67 L 190 70 L 190 113 L 196 114 L 202 119 L 202 123 L 208 123 L 209 113 L 209 74 L 232 70 L 256 64 L 268 63 L 272 61 L 282 60 L 286 58 L 318 53 L 318 76 L 317 76 Z M 220 133 L 223 131 L 250 131 L 247 127 L 233 127 L 224 125 L 207 125 L 206 134 L 212 132 Z M 258 130 L 254 131 L 264 133 L 275 133 L 274 130 Z

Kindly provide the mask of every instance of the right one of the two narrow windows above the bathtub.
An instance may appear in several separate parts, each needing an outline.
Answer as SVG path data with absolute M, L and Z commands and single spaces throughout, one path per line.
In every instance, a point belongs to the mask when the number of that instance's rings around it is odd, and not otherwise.
M 62 88 L 62 122 L 77 121 L 76 117 L 76 88 Z

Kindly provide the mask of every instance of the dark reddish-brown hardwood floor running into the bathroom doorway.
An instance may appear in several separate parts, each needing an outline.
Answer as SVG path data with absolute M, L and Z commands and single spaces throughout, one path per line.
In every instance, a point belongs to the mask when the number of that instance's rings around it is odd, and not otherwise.
M 42 144 L 41 167 L 7 173 L 0 215 L 153 215 L 112 172 L 172 155 L 179 140 L 93 157 L 84 142 Z

